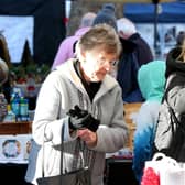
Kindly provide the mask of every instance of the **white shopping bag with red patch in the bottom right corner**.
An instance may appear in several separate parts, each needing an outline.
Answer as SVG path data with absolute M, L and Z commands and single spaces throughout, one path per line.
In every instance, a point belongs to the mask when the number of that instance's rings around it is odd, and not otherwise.
M 185 167 L 174 159 L 156 153 L 145 162 L 141 185 L 185 185 Z

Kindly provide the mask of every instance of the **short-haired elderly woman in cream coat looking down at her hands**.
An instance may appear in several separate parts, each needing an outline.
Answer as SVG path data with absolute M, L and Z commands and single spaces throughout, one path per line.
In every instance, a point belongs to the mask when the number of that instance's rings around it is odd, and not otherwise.
M 72 170 L 74 154 L 69 145 L 80 140 L 91 184 L 104 184 L 105 154 L 123 148 L 128 140 L 121 88 L 109 75 L 120 51 L 116 31 L 106 24 L 96 25 L 78 41 L 76 58 L 47 76 L 33 120 L 33 139 L 41 149 L 45 142 L 44 154 L 43 150 L 32 148 L 28 182 L 36 184 L 42 167 L 45 176 L 59 174 L 61 152 L 56 145 L 61 144 L 64 126 L 64 149 L 68 150 L 64 151 L 63 171 Z

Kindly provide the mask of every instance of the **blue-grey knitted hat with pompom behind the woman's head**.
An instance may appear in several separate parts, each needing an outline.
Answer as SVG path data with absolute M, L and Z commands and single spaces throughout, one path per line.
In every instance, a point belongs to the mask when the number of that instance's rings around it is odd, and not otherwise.
M 116 8 L 113 3 L 105 3 L 101 10 L 97 13 L 97 17 L 95 18 L 92 25 L 106 23 L 111 25 L 117 31 L 118 29 L 115 11 Z

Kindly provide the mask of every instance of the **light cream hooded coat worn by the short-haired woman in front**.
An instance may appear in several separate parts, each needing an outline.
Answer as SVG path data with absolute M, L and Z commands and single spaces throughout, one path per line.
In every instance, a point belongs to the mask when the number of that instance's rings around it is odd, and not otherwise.
M 47 141 L 44 149 L 44 172 L 47 176 L 59 173 L 59 151 L 55 150 L 61 144 L 61 130 L 65 124 L 65 143 L 76 138 L 68 134 L 68 117 L 66 112 L 75 105 L 87 109 L 100 120 L 97 130 L 98 141 L 92 149 L 86 149 L 94 155 L 91 171 L 92 185 L 102 185 L 105 154 L 116 152 L 123 148 L 128 140 L 128 129 L 123 120 L 123 104 L 121 89 L 115 78 L 107 75 L 91 102 L 83 84 L 68 61 L 52 72 L 44 81 L 35 110 L 33 121 L 33 139 L 42 145 L 43 139 Z M 28 182 L 35 183 L 42 175 L 42 148 L 34 146 L 30 155 L 29 168 L 25 176 Z M 70 168 L 73 155 L 65 153 L 65 167 Z

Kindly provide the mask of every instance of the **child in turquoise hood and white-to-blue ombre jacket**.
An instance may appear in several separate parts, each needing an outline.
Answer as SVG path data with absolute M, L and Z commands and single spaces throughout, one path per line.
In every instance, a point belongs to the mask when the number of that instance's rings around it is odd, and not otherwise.
M 152 159 L 154 133 L 160 105 L 164 94 L 166 63 L 153 61 L 141 66 L 138 83 L 145 101 L 134 118 L 137 130 L 133 138 L 133 171 L 140 182 L 145 161 Z

